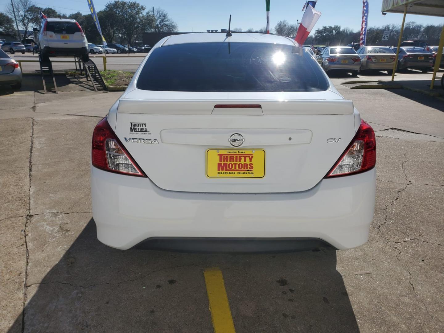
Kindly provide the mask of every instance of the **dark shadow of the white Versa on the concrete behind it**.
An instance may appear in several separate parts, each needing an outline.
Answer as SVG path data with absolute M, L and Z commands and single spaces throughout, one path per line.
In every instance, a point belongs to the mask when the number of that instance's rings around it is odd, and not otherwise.
M 238 332 L 359 332 L 331 248 L 123 251 L 97 240 L 93 219 L 41 281 L 28 278 L 24 327 L 20 316 L 8 332 L 213 332 L 203 275 L 209 267 L 222 270 Z

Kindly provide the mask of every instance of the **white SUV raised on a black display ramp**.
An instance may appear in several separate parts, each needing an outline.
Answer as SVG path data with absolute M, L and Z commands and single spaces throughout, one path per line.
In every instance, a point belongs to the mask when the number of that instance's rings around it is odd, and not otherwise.
M 38 30 L 38 43 L 43 58 L 79 56 L 88 58 L 88 41 L 76 20 L 43 19 Z

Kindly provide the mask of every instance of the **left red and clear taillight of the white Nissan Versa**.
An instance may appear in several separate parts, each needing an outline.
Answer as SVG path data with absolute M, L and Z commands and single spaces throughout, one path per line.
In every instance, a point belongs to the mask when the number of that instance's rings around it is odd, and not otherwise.
M 106 117 L 99 121 L 92 134 L 91 163 L 102 170 L 146 177 L 114 134 Z

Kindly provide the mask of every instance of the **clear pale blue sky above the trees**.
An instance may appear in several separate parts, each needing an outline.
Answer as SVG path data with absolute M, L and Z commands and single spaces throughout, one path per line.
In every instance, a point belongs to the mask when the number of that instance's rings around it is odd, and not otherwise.
M 0 10 L 4 11 L 8 0 L 0 0 Z M 36 0 L 38 6 L 51 6 L 64 13 L 81 11 L 88 13 L 87 0 Z M 96 10 L 104 8 L 107 0 L 94 0 Z M 206 29 L 228 28 L 228 17 L 232 14 L 233 28 L 258 29 L 266 25 L 265 0 L 141 0 L 147 8 L 152 6 L 165 9 L 176 21 L 181 32 L 206 31 Z M 369 0 L 369 26 L 400 24 L 402 14 L 381 14 L 382 0 Z M 305 0 L 270 0 L 270 26 L 279 20 L 296 23 L 301 20 L 302 6 Z M 60 7 L 61 6 L 61 7 Z M 341 25 L 341 27 L 359 30 L 361 24 L 361 0 L 318 0 L 316 9 L 322 12 L 316 28 L 323 25 Z M 406 21 L 421 24 L 443 24 L 444 18 L 407 15 Z

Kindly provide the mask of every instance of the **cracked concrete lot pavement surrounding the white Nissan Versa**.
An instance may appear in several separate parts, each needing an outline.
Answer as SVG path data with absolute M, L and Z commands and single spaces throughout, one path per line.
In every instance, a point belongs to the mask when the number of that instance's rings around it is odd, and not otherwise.
M 369 242 L 287 254 L 104 246 L 91 133 L 120 93 L 0 90 L 0 331 L 212 332 L 204 271 L 218 267 L 237 332 L 442 332 L 444 103 L 349 80 L 333 83 L 377 135 Z

